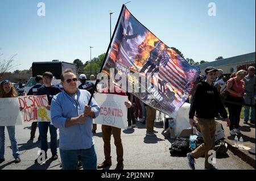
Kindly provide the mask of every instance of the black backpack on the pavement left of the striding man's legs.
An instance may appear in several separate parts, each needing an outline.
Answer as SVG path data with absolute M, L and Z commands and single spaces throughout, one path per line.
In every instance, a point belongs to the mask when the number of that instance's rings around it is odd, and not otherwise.
M 189 139 L 178 137 L 169 148 L 172 156 L 186 156 L 191 150 L 189 149 Z

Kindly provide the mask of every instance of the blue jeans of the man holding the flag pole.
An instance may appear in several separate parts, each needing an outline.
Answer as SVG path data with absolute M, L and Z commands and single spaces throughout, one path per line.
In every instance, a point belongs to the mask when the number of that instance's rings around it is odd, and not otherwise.
M 97 155 L 94 145 L 89 149 L 63 150 L 60 149 L 61 165 L 64 170 L 77 170 L 78 156 L 82 161 L 82 168 L 85 170 L 97 169 Z

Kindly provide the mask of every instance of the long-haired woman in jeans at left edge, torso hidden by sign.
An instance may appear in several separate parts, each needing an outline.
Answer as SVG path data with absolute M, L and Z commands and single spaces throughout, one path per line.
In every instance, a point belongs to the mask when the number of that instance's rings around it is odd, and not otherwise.
M 14 86 L 9 80 L 2 81 L 0 84 L 0 98 L 15 98 L 18 96 Z M 15 163 L 20 162 L 18 144 L 15 138 L 15 125 L 6 126 L 11 141 L 11 149 Z M 0 126 L 0 163 L 5 161 L 5 127 Z

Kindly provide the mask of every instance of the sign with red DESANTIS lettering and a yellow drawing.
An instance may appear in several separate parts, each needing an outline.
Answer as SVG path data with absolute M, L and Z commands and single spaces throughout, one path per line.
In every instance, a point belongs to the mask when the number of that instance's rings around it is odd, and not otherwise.
M 24 122 L 51 121 L 47 95 L 19 96 L 18 100 Z

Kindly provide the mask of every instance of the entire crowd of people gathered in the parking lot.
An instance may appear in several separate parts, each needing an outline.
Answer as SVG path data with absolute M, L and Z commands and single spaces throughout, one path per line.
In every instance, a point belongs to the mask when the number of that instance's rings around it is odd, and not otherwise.
M 247 73 L 248 71 L 248 73 Z M 208 163 L 208 151 L 214 147 L 214 133 L 216 125 L 214 117 L 219 114 L 226 120 L 229 126 L 230 134 L 241 134 L 240 131 L 240 112 L 244 111 L 244 123 L 255 124 L 255 68 L 249 66 L 248 70 L 240 70 L 232 74 L 228 80 L 223 77 L 221 69 L 208 67 L 205 69 L 205 76 L 199 77 L 195 92 L 190 100 L 191 108 L 189 111 L 189 123 L 193 126 L 195 123 L 200 127 L 204 138 L 204 144 L 188 153 L 187 158 L 191 169 L 195 169 L 195 159 L 205 155 L 205 169 L 216 169 Z M 58 158 L 57 154 L 57 129 L 59 129 L 59 149 L 61 166 L 63 169 L 101 169 L 112 165 L 110 154 L 110 139 L 113 134 L 114 144 L 117 154 L 117 166 L 115 169 L 122 170 L 123 166 L 123 146 L 121 140 L 121 128 L 102 125 L 102 140 L 104 141 L 105 160 L 97 165 L 97 155 L 94 148 L 93 134 L 96 133 L 97 125 L 93 124 L 93 119 L 99 115 L 100 107 L 92 98 L 89 105 L 88 100 L 93 93 L 94 84 L 87 81 L 85 74 L 80 74 L 81 85 L 77 88 L 78 79 L 71 69 L 65 70 L 61 74 L 61 83 L 59 86 L 52 85 L 52 73 L 45 72 L 43 75 L 37 75 L 36 85 L 30 91 L 23 95 L 47 95 L 51 110 L 51 122 L 33 122 L 31 124 L 30 139 L 35 138 L 36 127 L 39 127 L 40 148 L 47 158 L 48 141 L 47 132 L 51 134 L 50 149 L 52 161 Z M 90 80 L 94 80 L 94 75 Z M 228 96 L 225 103 L 220 98 L 221 87 L 226 86 Z M 146 124 L 146 135 L 156 136 L 158 133 L 154 130 L 156 110 L 132 94 L 124 92 L 115 86 L 114 91 L 109 87 L 102 89 L 103 94 L 118 94 L 128 96 L 124 103 L 127 107 L 127 129 L 137 127 L 137 122 Z M 119 91 L 117 91 L 120 89 Z M 8 80 L 2 81 L 0 85 L 0 98 L 16 97 L 17 92 Z M 228 113 L 225 110 L 228 107 Z M 250 112 L 250 113 L 249 113 Z M 196 120 L 194 119 L 196 116 Z M 20 162 L 19 150 L 15 138 L 15 126 L 7 126 L 11 148 L 15 163 Z M 79 135 L 79 136 L 77 136 Z M 43 152 L 41 154 L 43 154 Z M 5 161 L 5 127 L 0 127 L 0 163 Z M 38 163 L 40 155 L 35 159 Z

